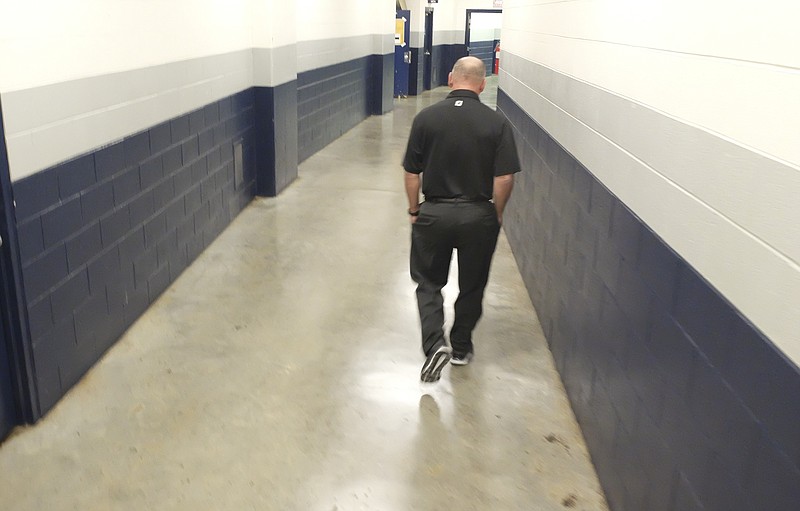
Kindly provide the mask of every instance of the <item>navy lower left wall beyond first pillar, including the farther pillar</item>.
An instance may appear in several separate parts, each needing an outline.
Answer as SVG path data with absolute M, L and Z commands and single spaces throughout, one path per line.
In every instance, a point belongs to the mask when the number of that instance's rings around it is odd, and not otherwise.
M 393 59 L 394 54 L 371 55 L 298 74 L 298 161 L 370 115 L 391 110 L 393 88 L 389 97 L 386 92 L 394 84 Z

